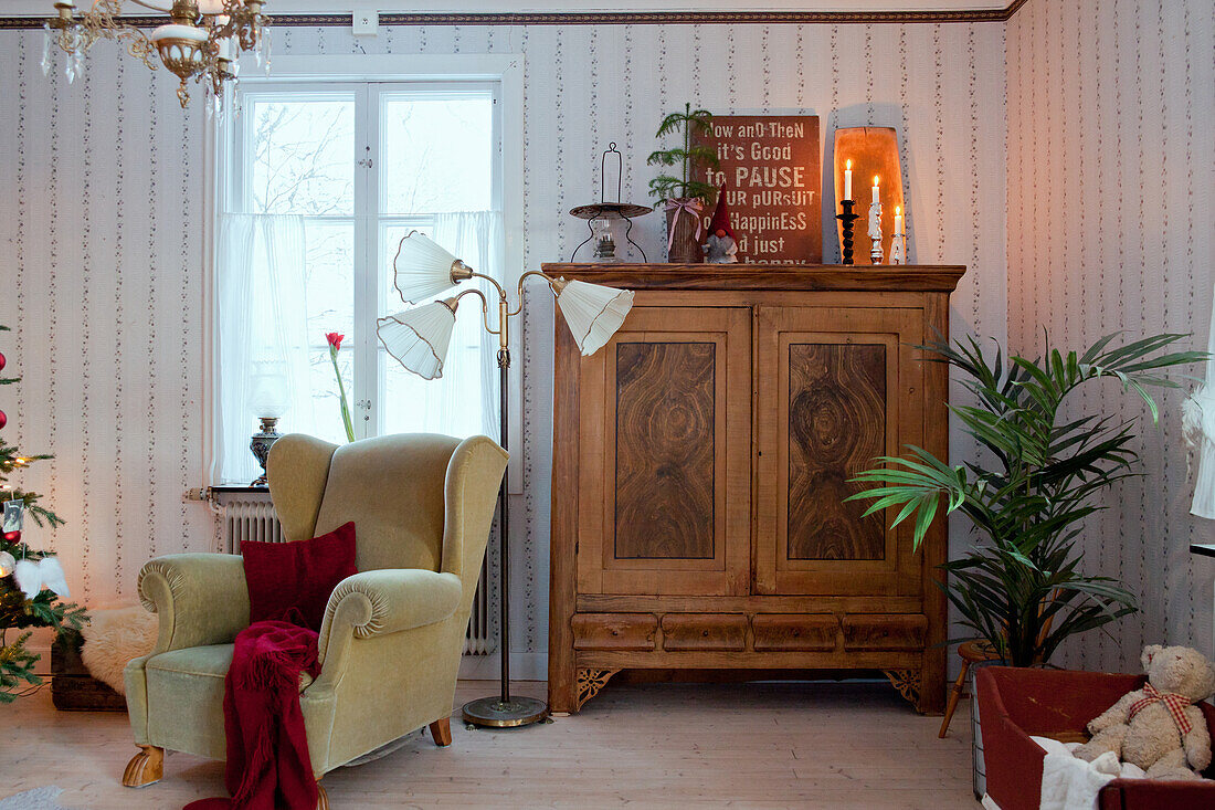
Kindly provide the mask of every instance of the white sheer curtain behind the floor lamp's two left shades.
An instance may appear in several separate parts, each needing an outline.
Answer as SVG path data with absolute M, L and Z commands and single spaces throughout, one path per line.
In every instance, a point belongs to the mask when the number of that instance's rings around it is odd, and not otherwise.
M 503 283 L 505 234 L 501 212 L 436 214 L 430 237 L 474 270 Z M 497 326 L 498 294 L 488 282 L 479 280 L 479 283 L 490 300 L 490 324 Z M 453 294 L 468 287 L 469 282 L 465 282 Z M 388 311 L 400 311 L 403 304 L 395 289 L 391 296 L 392 299 L 386 302 Z M 380 348 L 380 359 L 386 364 L 388 375 L 385 432 L 445 433 L 457 437 L 484 433 L 497 439 L 497 354 L 498 338 L 486 332 L 481 302 L 475 296 L 460 299 L 456 332 L 441 378 L 422 379 L 402 369 Z

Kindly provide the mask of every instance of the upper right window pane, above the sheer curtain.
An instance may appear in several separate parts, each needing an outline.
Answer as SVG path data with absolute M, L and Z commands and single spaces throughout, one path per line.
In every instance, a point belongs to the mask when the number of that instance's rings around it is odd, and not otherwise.
M 488 94 L 382 96 L 382 214 L 492 207 Z

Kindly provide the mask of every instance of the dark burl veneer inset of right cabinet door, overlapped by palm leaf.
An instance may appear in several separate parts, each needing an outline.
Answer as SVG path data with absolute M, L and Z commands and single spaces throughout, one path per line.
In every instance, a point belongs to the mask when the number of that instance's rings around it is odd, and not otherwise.
M 882 559 L 880 514 L 844 502 L 886 451 L 886 347 L 789 347 L 789 558 Z

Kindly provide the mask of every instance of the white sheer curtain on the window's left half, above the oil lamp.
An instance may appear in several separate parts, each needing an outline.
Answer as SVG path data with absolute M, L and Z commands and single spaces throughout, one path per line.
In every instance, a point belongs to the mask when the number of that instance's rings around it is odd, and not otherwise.
M 312 432 L 306 255 L 301 216 L 220 218 L 213 372 L 216 484 L 248 484 L 261 474 L 249 451 L 258 416 L 281 411 L 279 432 Z

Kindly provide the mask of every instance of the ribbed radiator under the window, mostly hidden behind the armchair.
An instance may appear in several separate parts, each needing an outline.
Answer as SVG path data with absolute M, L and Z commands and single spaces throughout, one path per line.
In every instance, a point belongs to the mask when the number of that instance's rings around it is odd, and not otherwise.
M 197 491 L 197 490 L 196 490 Z M 245 540 L 256 542 L 282 542 L 283 524 L 275 514 L 270 495 L 261 493 L 224 493 L 211 490 L 211 502 L 219 516 L 220 546 L 231 555 L 241 553 Z M 495 630 L 491 626 L 490 598 L 485 583 L 490 581 L 490 558 L 481 563 L 481 578 L 473 597 L 464 636 L 465 656 L 487 656 L 493 649 Z

